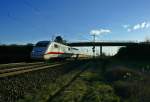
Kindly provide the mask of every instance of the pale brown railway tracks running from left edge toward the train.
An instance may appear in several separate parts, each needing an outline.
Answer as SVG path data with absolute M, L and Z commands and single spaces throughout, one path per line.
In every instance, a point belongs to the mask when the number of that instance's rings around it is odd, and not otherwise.
M 9 66 L 9 68 L 0 69 L 0 78 L 18 75 L 18 74 L 27 73 L 27 72 L 36 71 L 36 70 L 52 68 L 52 67 L 60 66 L 63 64 L 65 63 L 46 64 L 44 62 L 40 62 L 40 63 L 29 63 L 27 65 L 22 65 L 21 67 L 20 67 L 20 64 L 19 66 L 16 66 L 16 67 Z

